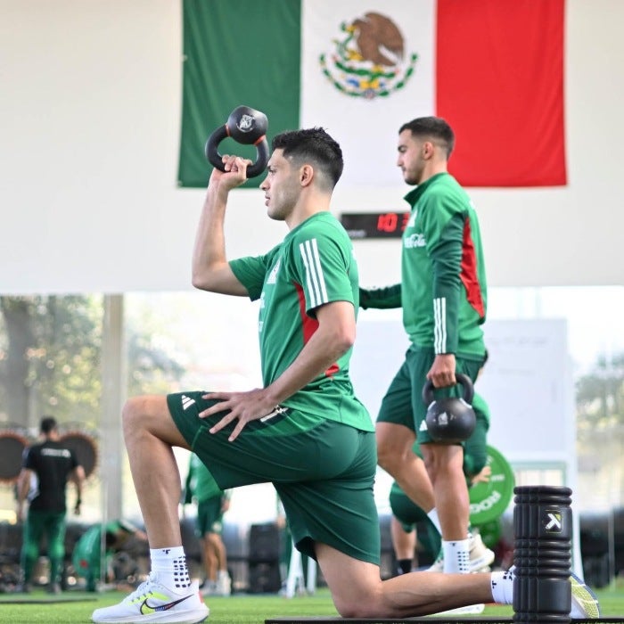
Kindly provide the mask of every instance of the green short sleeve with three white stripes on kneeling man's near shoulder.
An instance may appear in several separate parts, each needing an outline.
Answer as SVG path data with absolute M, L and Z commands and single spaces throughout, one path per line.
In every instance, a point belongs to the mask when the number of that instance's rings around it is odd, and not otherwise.
M 331 231 L 306 228 L 292 241 L 293 275 L 303 290 L 306 311 L 333 301 L 356 305 L 351 281 L 353 254 Z M 356 280 L 357 281 L 357 280 Z

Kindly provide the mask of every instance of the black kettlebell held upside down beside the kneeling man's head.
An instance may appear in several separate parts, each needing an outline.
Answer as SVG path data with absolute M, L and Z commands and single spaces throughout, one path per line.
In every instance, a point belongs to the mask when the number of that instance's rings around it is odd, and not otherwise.
M 206 141 L 206 158 L 209 163 L 224 171 L 221 154 L 218 152 L 218 144 L 231 136 L 236 143 L 256 146 L 256 162 L 247 168 L 247 177 L 259 176 L 266 168 L 268 162 L 267 144 L 267 115 L 256 111 L 249 106 L 238 106 L 230 113 L 225 126 L 219 126 Z

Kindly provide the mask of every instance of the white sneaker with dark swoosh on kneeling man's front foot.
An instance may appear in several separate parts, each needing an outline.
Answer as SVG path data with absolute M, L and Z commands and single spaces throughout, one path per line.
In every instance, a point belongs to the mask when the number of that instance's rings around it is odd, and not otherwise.
M 119 604 L 95 609 L 91 620 L 103 624 L 160 622 L 197 624 L 208 618 L 208 607 L 201 600 L 196 582 L 184 594 L 171 591 L 158 582 L 154 572 Z

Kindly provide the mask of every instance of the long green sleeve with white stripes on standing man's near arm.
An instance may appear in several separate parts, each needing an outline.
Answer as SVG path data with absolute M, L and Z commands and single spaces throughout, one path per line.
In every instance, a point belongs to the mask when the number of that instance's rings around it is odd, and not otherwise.
M 433 274 L 433 348 L 436 355 L 456 353 L 459 342 L 459 298 L 464 213 L 443 194 L 427 209 L 423 229 Z

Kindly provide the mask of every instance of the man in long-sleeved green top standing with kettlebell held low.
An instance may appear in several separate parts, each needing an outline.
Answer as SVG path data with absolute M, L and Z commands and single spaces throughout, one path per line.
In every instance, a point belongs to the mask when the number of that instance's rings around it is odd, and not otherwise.
M 485 263 L 472 202 L 447 172 L 454 144 L 444 119 L 423 117 L 400 127 L 397 164 L 406 184 L 415 185 L 406 195 L 412 210 L 403 233 L 401 283 L 361 291 L 360 305 L 402 306 L 411 341 L 377 417 L 379 464 L 439 529 L 444 571 L 469 572 L 487 563 L 484 553 L 471 553 L 464 448 L 431 439 L 421 398 L 428 379 L 438 398 L 462 396 L 456 373 L 474 382 L 485 357 Z M 412 449 L 416 436 L 424 461 Z

